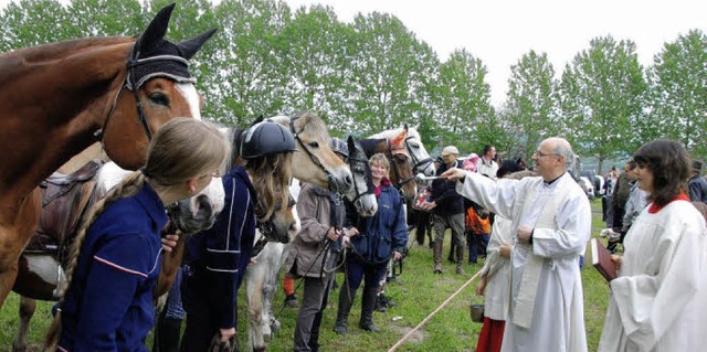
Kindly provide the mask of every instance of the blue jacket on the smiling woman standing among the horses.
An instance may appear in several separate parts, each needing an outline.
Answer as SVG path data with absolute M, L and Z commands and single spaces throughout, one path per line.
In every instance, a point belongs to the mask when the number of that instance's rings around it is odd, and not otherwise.
M 382 185 L 378 195 L 378 212 L 362 217 L 347 202 L 345 227 L 356 227 L 357 236 L 351 237 L 355 257 L 374 264 L 388 264 L 392 250 L 402 253 L 408 243 L 405 214 L 400 192 L 390 185 Z

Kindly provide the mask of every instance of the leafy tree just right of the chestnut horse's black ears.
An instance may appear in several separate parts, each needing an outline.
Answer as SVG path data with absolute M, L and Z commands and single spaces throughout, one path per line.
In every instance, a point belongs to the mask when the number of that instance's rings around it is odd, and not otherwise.
M 247 126 L 260 115 L 282 111 L 286 77 L 279 74 L 276 42 L 289 17 L 284 2 L 271 0 L 224 0 L 215 8 L 218 67 L 202 78 L 218 121 Z

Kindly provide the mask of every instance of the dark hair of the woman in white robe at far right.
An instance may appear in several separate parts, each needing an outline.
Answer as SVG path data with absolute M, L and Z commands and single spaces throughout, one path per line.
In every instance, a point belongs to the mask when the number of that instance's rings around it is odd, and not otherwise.
M 653 172 L 653 192 L 648 200 L 665 206 L 687 189 L 692 160 L 683 145 L 672 140 L 654 140 L 643 145 L 633 156 L 640 168 Z

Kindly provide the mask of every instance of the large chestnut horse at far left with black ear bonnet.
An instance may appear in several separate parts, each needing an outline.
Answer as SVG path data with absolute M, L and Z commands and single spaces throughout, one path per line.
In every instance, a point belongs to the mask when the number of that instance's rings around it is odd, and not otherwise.
M 136 38 L 92 38 L 0 55 L 0 307 L 41 213 L 38 185 L 102 141 L 126 169 L 144 164 L 151 134 L 199 117 L 187 60 L 214 33 L 163 39 L 173 4 Z M 130 94 L 131 93 L 131 94 Z

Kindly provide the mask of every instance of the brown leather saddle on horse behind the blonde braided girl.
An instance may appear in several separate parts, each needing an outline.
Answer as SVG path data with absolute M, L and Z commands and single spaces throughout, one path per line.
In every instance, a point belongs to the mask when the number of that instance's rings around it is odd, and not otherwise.
M 86 209 L 99 199 L 95 175 L 103 163 L 94 159 L 74 173 L 55 172 L 40 183 L 42 214 L 24 253 L 57 254 L 76 235 Z

